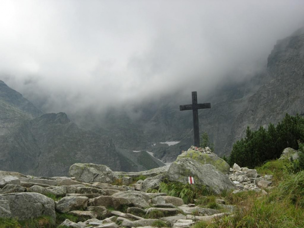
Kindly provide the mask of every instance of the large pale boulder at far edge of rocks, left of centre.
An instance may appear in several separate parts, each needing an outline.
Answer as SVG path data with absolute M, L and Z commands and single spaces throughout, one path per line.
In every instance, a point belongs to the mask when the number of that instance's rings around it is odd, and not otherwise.
M 75 163 L 70 167 L 69 174 L 77 181 L 85 183 L 113 183 L 115 179 L 118 179 L 118 176 L 109 167 L 92 163 Z

